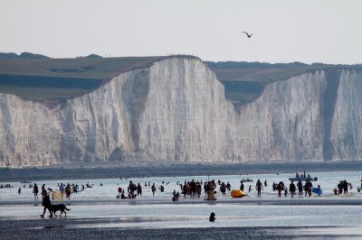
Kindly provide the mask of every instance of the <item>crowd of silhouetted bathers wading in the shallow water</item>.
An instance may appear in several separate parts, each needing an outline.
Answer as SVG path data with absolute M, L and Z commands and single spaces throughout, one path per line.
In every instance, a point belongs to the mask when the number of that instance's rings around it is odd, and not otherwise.
M 252 180 L 247 180 L 246 182 L 252 182 Z M 239 189 L 243 192 L 245 191 L 243 180 L 240 182 Z M 164 185 L 168 185 L 169 182 L 165 183 L 162 182 L 161 185 L 157 185 L 156 183 L 150 183 L 145 182 L 144 187 L 148 189 L 152 193 L 152 196 L 155 197 L 157 195 L 157 191 L 162 193 L 165 189 Z M 255 183 L 253 183 L 254 187 L 252 185 L 249 185 L 248 187 L 248 193 L 251 194 L 252 191 L 255 190 L 255 194 L 258 197 L 262 197 L 262 192 L 264 189 L 268 186 L 267 180 L 256 180 Z M 172 192 L 171 199 L 173 201 L 177 201 L 182 194 L 184 198 L 202 198 L 203 192 L 204 192 L 204 198 L 205 200 L 215 200 L 216 199 L 216 193 L 225 196 L 228 192 L 231 191 L 232 186 L 227 181 L 222 180 L 185 180 L 184 182 L 177 181 L 176 185 L 179 187 L 179 191 Z M 10 184 L 6 184 L 4 188 L 11 188 Z M 100 186 L 102 184 L 100 183 Z M 1 186 L 0 186 L 1 187 Z M 39 198 L 39 195 L 42 195 L 42 199 L 44 196 L 46 196 L 45 191 L 47 192 L 47 195 L 53 199 L 53 189 L 45 189 L 45 184 L 43 186 L 38 187 L 36 183 L 29 184 L 29 186 L 25 186 L 24 188 L 32 188 L 33 189 L 33 198 L 37 200 Z M 71 199 L 71 194 L 76 194 L 80 191 L 83 191 L 86 188 L 92 188 L 93 185 L 90 185 L 90 183 L 87 183 L 85 185 L 78 185 L 78 184 L 58 184 L 58 189 L 56 189 L 57 192 L 59 192 L 62 196 L 62 199 L 68 198 Z M 117 198 L 137 198 L 138 196 L 142 196 L 143 194 L 143 186 L 141 186 L 140 183 L 133 183 L 132 180 L 129 180 L 129 184 L 126 188 L 118 188 L 118 194 Z M 272 191 L 275 191 L 278 197 L 284 196 L 291 196 L 291 198 L 295 198 L 296 196 L 299 198 L 306 198 L 311 197 L 312 192 L 315 194 L 321 195 L 321 188 L 319 185 L 317 187 L 313 186 L 313 182 L 311 180 L 298 180 L 294 182 L 291 180 L 289 186 L 284 184 L 283 181 L 280 181 L 279 183 L 273 182 L 272 183 Z M 361 188 L 362 188 L 362 180 L 361 180 Z M 357 191 L 360 192 L 360 187 L 357 188 Z M 235 187 L 233 188 L 235 189 Z M 333 189 L 333 193 L 335 195 L 341 195 L 341 194 L 348 194 L 348 189 L 352 189 L 352 184 L 349 183 L 347 180 L 340 180 L 336 186 L 335 189 Z M 22 188 L 17 189 L 18 194 L 22 194 Z M 40 194 L 39 194 L 40 193 Z

